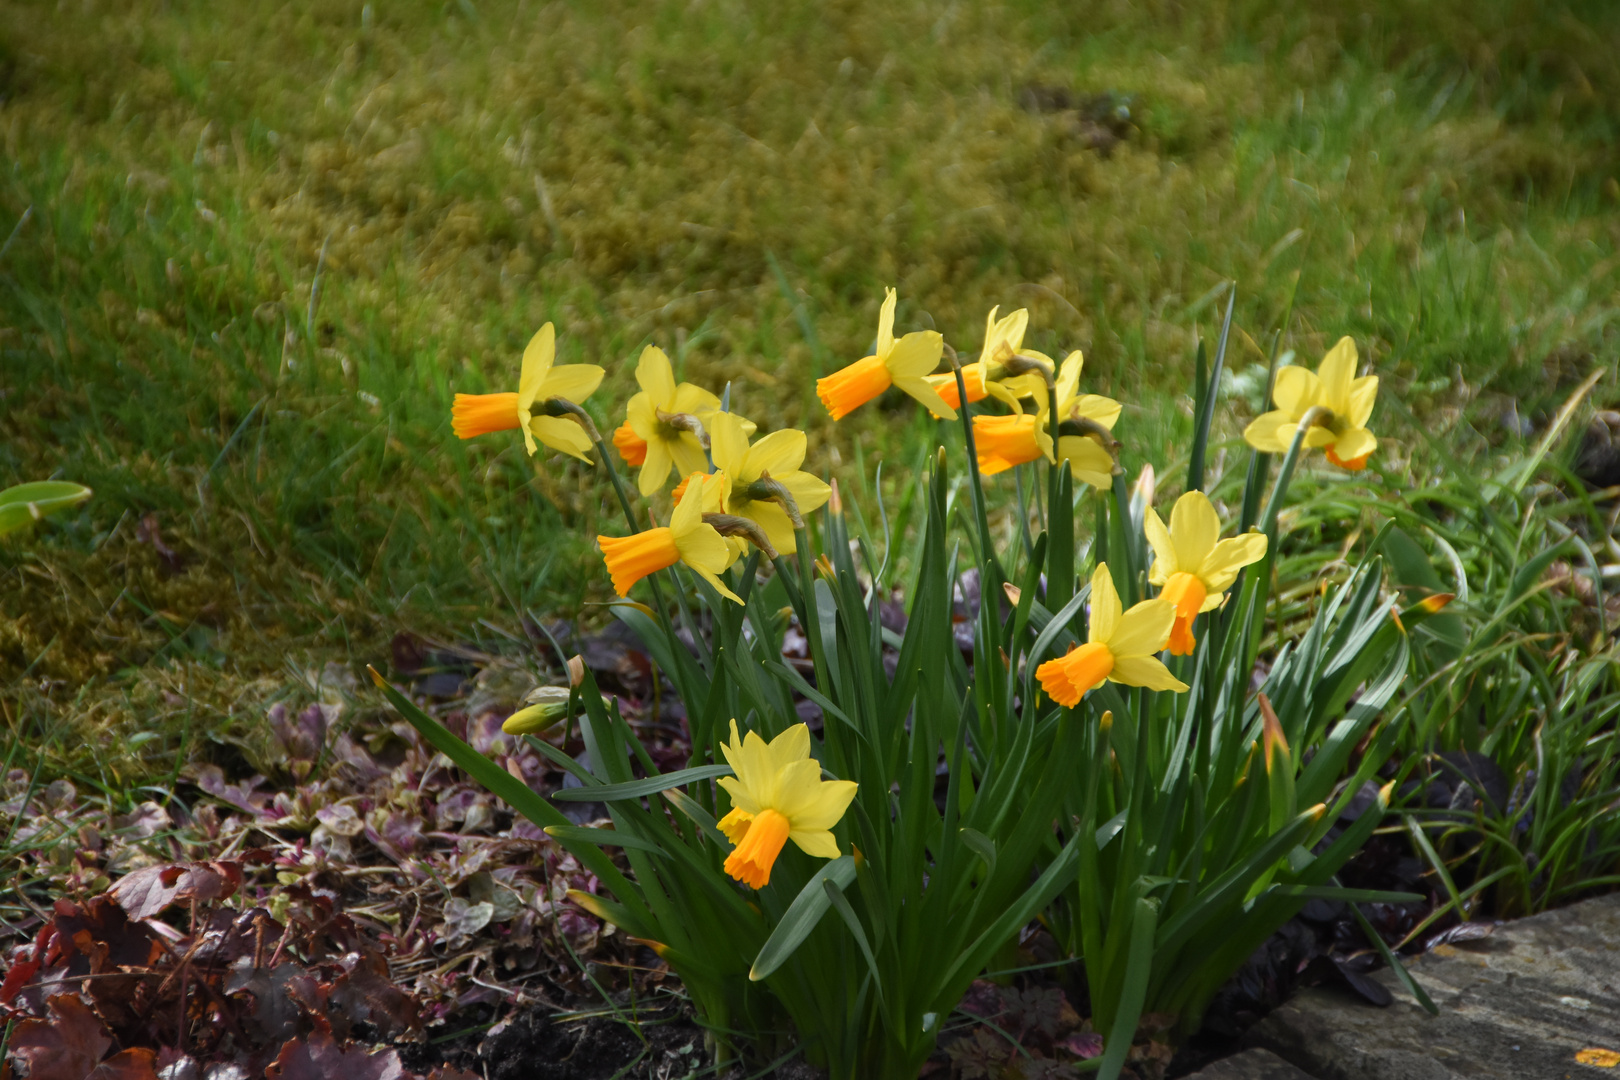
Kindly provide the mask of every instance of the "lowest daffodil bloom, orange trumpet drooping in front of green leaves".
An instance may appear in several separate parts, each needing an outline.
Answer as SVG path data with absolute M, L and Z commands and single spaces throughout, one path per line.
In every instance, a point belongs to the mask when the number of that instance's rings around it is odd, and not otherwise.
M 821 779 L 821 763 L 810 756 L 808 727 L 794 724 L 766 743 L 755 732 L 739 738 L 732 721 L 731 742 L 719 748 L 737 774 L 719 780 L 732 806 L 719 819 L 719 831 L 737 845 L 726 858 L 727 874 L 763 889 L 787 840 L 805 855 L 838 858 L 833 826 L 855 798 L 855 782 Z

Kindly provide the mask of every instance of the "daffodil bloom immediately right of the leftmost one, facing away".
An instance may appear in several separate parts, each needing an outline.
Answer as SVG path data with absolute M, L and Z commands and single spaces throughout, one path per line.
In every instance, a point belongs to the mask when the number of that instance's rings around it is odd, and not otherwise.
M 625 405 L 625 426 L 630 431 L 624 440 L 614 432 L 614 445 L 625 461 L 640 455 L 637 487 L 642 494 L 651 495 L 663 487 L 671 468 L 677 476 L 706 473 L 701 424 L 703 416 L 719 408 L 719 398 L 690 382 L 677 384 L 669 356 L 656 345 L 642 350 L 635 381 L 642 392 Z

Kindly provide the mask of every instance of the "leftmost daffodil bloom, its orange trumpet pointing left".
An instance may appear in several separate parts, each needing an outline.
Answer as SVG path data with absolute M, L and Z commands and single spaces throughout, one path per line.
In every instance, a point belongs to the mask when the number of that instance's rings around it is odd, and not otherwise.
M 601 385 L 603 369 L 596 364 L 559 368 L 554 366 L 556 359 L 557 332 L 548 322 L 523 350 L 517 393 L 457 393 L 450 405 L 450 429 L 460 439 L 471 439 L 517 427 L 523 432 L 523 445 L 530 455 L 535 453 L 538 439 L 552 450 L 590 463 L 586 450 L 591 449 L 595 429 L 585 427 L 590 419 L 578 403 Z

